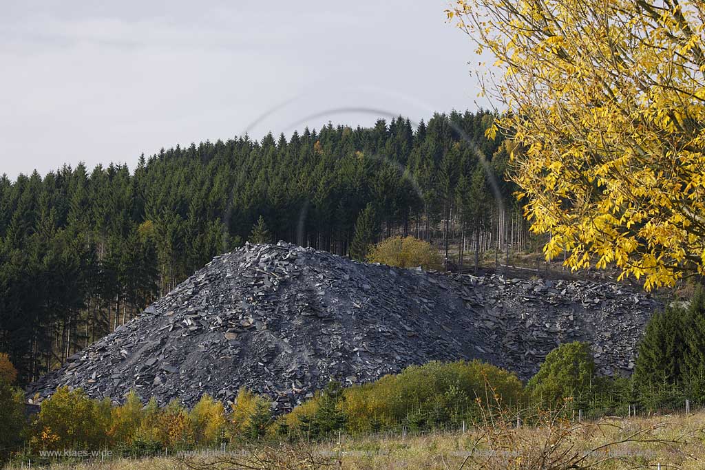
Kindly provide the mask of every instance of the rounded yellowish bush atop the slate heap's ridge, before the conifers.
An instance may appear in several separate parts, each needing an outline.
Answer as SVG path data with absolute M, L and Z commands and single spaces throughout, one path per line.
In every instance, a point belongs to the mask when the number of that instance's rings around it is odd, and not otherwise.
M 369 250 L 367 261 L 400 268 L 421 266 L 424 269 L 440 269 L 442 263 L 438 249 L 412 236 L 382 240 Z

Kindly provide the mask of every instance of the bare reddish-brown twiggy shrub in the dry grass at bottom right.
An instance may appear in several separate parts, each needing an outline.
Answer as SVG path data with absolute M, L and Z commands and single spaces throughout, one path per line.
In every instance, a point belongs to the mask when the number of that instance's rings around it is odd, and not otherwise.
M 575 422 L 565 417 L 570 400 L 563 409 L 525 410 L 523 419 L 531 426 L 522 428 L 517 426 L 517 415 L 501 406 L 489 386 L 487 390 L 485 400 L 478 400 L 481 421 L 470 430 L 470 450 L 460 469 L 589 470 L 618 462 L 628 464 L 630 470 L 649 469 L 653 468 L 650 463 L 655 447 L 678 453 L 692 435 L 661 433 L 664 423 L 634 426 L 608 419 Z

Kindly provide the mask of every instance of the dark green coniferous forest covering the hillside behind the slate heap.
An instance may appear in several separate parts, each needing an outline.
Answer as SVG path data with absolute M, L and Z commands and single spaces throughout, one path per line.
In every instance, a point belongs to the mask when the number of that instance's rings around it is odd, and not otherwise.
M 503 178 L 508 141 L 485 137 L 493 119 L 329 124 L 161 149 L 133 170 L 79 163 L 4 175 L 0 350 L 32 381 L 253 234 L 358 259 L 369 243 L 414 235 L 448 268 L 486 249 L 523 249 L 527 230 Z

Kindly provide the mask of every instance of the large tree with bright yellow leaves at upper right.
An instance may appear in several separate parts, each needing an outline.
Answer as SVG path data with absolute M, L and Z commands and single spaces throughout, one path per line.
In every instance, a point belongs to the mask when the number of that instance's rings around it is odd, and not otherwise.
M 535 233 L 650 290 L 705 271 L 705 3 L 460 0 Z M 492 137 L 498 130 L 493 126 Z

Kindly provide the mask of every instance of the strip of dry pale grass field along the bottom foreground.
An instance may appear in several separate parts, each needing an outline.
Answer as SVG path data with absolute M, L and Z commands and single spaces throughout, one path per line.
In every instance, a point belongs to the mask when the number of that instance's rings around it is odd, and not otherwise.
M 52 469 L 705 469 L 705 412 L 571 423 L 545 416 L 514 428 L 491 420 L 465 433 L 370 436 L 330 443 L 234 446 L 226 453 L 104 462 L 56 462 Z M 27 468 L 16 462 L 9 468 Z M 37 468 L 32 464 L 32 468 Z

